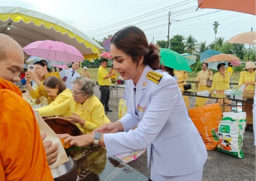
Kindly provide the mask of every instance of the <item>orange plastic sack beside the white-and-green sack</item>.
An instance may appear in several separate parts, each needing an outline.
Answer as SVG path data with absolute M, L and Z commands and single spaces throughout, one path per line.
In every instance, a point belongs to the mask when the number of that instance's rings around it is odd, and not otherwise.
M 207 150 L 216 149 L 219 144 L 218 126 L 222 119 L 219 104 L 209 104 L 188 109 L 188 114 L 202 136 Z

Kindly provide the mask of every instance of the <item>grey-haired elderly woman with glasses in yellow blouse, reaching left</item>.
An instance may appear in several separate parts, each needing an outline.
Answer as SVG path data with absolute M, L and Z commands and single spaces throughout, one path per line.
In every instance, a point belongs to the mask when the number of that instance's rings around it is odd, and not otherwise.
M 50 109 L 38 111 L 41 117 L 61 115 L 71 111 L 72 115 L 65 118 L 75 123 L 83 133 L 89 134 L 103 124 L 110 123 L 102 103 L 94 95 L 94 87 L 93 80 L 83 76 L 77 77 L 74 80 L 73 97 Z

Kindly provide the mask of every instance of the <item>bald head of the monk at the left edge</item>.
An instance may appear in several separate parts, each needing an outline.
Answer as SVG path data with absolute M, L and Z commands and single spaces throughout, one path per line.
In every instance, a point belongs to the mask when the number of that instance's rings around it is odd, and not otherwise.
M 11 82 L 19 81 L 23 63 L 24 53 L 18 42 L 0 33 L 0 78 Z

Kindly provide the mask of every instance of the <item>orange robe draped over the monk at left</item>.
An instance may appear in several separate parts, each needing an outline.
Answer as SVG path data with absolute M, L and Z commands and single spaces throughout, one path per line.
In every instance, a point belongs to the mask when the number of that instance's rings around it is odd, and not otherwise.
M 0 78 L 0 180 L 53 180 L 31 106 Z

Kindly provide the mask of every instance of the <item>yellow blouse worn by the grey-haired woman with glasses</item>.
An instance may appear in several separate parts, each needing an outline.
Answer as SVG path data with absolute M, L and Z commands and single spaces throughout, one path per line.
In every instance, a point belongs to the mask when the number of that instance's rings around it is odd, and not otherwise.
M 88 103 L 89 101 L 89 103 Z M 88 105 L 87 105 L 88 104 Z M 86 109 L 80 110 L 82 107 Z M 76 113 L 80 118 L 85 120 L 85 125 L 82 127 L 80 124 L 75 123 L 79 130 L 85 134 L 90 134 L 96 128 L 102 126 L 105 123 L 110 123 L 110 120 L 106 117 L 104 107 L 99 99 L 93 95 L 90 99 L 86 100 L 83 105 L 78 102 L 74 102 L 74 98 L 70 97 L 68 100 L 62 102 L 61 104 L 52 107 L 49 110 L 39 110 L 41 117 L 49 117 L 53 115 L 61 115 L 66 111 L 71 111 Z

